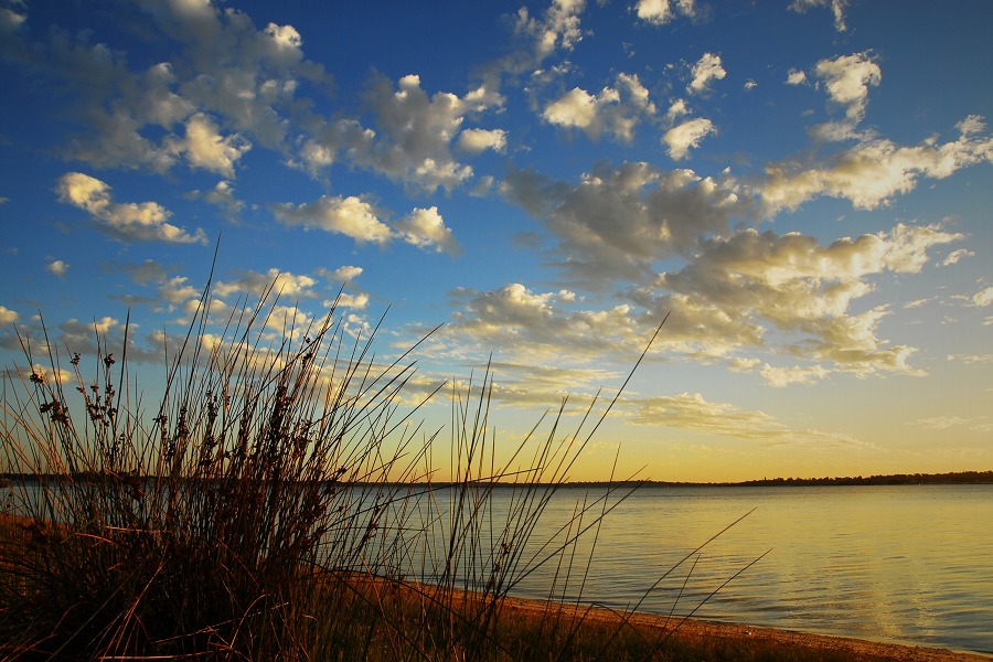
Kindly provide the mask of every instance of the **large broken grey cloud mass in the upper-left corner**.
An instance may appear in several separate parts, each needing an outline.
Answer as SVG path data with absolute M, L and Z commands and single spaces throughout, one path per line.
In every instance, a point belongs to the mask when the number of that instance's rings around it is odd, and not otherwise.
M 24 32 L 8 44 L 8 57 L 65 89 L 67 115 L 86 127 L 68 141 L 71 158 L 166 172 L 185 157 L 231 178 L 249 140 L 285 148 L 299 82 L 328 81 L 302 57 L 291 25 L 258 30 L 239 10 L 210 3 L 152 2 L 129 19 L 182 47 L 168 62 L 136 68 L 126 53 L 92 43 L 88 31 L 53 31 L 39 42 Z

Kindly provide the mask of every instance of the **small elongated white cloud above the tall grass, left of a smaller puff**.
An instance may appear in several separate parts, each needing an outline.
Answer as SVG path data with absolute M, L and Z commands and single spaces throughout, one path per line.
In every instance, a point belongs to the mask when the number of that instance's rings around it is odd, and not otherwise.
M 375 209 L 353 195 L 348 197 L 322 195 L 312 203 L 296 206 L 291 203 L 274 204 L 270 210 L 276 218 L 286 225 L 343 234 L 360 244 L 382 245 L 393 238 L 393 231 L 380 221 Z

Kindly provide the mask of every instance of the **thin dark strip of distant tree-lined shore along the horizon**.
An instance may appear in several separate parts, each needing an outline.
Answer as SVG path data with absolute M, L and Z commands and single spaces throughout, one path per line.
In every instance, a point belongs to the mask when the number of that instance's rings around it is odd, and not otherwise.
M 81 473 L 73 477 L 74 480 L 94 480 L 106 477 L 90 476 Z M 129 481 L 136 480 L 138 477 L 126 474 L 119 477 Z M 154 480 L 154 476 L 142 477 L 141 480 Z M 0 488 L 8 482 L 41 482 L 41 481 L 65 481 L 65 474 L 38 474 L 38 473 L 0 473 Z M 512 488 L 515 483 L 511 482 L 480 482 L 480 487 L 493 488 Z M 366 484 L 377 484 L 383 487 L 428 487 L 433 489 L 444 489 L 450 487 L 452 482 L 435 481 L 435 482 L 416 482 L 402 483 L 378 481 L 375 483 L 367 482 L 335 482 L 341 487 L 362 487 Z M 890 473 L 884 476 L 868 477 L 835 477 L 835 478 L 762 478 L 758 480 L 746 480 L 739 482 L 684 482 L 684 481 L 659 481 L 659 480 L 621 480 L 621 481 L 573 481 L 557 483 L 563 488 L 802 488 L 802 487 L 853 487 L 853 485 L 987 485 L 993 484 L 993 471 L 959 471 L 951 473 Z M 544 483 L 531 483 L 531 487 L 546 487 Z M 551 483 L 547 487 L 552 487 Z

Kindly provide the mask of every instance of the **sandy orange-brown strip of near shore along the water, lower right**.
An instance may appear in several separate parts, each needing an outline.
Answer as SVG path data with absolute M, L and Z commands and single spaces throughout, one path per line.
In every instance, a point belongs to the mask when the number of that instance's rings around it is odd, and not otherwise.
M 853 637 L 836 637 L 832 634 L 815 634 L 799 630 L 783 630 L 777 628 L 747 626 L 743 623 L 712 621 L 703 619 L 680 619 L 647 613 L 619 612 L 596 607 L 559 607 L 554 602 L 542 600 L 506 597 L 503 608 L 510 612 L 537 616 L 554 612 L 562 609 L 568 618 L 585 618 L 601 622 L 618 622 L 627 619 L 637 627 L 645 627 L 660 631 L 675 629 L 679 637 L 687 640 L 725 639 L 760 641 L 777 645 L 793 647 L 800 650 L 821 652 L 836 652 L 850 660 L 866 660 L 876 662 L 982 662 L 993 660 L 993 655 L 973 651 L 953 651 L 943 648 L 911 645 L 901 643 L 888 643 L 856 639 Z

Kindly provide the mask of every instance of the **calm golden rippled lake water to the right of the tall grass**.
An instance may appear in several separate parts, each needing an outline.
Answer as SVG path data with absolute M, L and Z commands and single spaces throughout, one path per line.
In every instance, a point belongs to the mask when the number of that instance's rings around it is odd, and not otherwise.
M 577 498 L 562 490 L 546 523 Z M 652 588 L 752 509 L 688 580 L 696 556 Z M 685 615 L 767 551 L 695 616 L 993 653 L 993 485 L 643 488 L 604 521 L 581 600 Z M 516 592 L 547 596 L 552 573 Z

